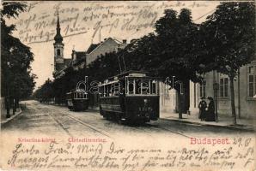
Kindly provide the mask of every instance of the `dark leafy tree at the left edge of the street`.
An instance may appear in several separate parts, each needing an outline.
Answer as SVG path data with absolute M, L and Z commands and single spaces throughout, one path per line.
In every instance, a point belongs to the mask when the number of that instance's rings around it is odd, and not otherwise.
M 35 75 L 31 74 L 30 64 L 34 55 L 30 48 L 12 36 L 15 25 L 7 26 L 6 18 L 16 18 L 26 10 L 25 3 L 3 3 L 1 9 L 1 96 L 5 97 L 7 117 L 10 105 L 15 107 L 21 97 L 28 97 L 34 89 Z M 27 93 L 25 93 L 25 91 Z

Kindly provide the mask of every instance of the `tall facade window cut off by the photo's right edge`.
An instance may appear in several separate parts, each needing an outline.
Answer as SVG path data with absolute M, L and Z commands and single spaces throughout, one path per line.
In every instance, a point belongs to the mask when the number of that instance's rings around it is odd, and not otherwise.
M 248 97 L 256 95 L 256 66 L 248 67 Z

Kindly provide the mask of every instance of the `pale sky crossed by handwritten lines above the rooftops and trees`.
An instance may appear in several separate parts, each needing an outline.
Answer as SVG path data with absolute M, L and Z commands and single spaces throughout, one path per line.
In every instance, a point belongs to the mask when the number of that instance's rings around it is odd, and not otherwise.
M 34 53 L 32 70 L 38 77 L 38 87 L 48 78 L 52 80 L 57 13 L 64 37 L 64 58 L 70 58 L 72 50 L 85 51 L 90 44 L 104 38 L 126 39 L 129 43 L 133 38 L 154 32 L 154 23 L 163 16 L 164 9 L 178 13 L 183 8 L 191 9 L 192 20 L 201 23 L 218 4 L 217 1 L 27 2 L 27 12 L 7 23 L 16 25 L 13 35 Z

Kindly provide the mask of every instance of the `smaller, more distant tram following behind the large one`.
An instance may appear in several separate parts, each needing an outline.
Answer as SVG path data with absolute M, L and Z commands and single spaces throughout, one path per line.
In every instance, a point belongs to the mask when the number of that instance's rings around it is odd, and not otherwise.
M 88 93 L 73 90 L 66 93 L 67 105 L 70 110 L 82 111 L 88 109 Z

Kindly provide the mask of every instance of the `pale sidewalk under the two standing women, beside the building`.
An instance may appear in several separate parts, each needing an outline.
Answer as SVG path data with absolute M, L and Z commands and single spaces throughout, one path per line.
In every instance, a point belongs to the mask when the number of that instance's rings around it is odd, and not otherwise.
M 228 127 L 237 130 L 256 131 L 256 119 L 238 119 L 236 120 L 237 126 L 233 125 L 233 117 L 231 116 L 218 116 L 218 121 L 201 121 L 198 119 L 198 114 L 192 115 L 182 114 L 183 119 L 179 119 L 179 114 L 174 112 L 161 112 L 160 118 L 164 120 L 180 121 L 198 125 L 213 126 L 213 127 Z

